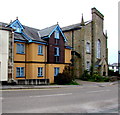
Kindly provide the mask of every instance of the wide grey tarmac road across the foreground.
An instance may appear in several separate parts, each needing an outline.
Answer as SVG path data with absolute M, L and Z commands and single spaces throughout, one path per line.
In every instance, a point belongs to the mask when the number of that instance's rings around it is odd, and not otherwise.
M 118 113 L 118 84 L 2 91 L 2 113 Z

